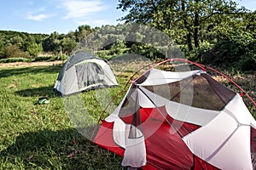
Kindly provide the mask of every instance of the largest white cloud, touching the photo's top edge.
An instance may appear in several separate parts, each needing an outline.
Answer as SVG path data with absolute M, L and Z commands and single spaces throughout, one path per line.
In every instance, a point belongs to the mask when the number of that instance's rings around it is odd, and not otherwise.
M 108 8 L 100 0 L 62 0 L 61 6 L 67 10 L 64 19 L 84 19 L 92 13 L 96 13 Z

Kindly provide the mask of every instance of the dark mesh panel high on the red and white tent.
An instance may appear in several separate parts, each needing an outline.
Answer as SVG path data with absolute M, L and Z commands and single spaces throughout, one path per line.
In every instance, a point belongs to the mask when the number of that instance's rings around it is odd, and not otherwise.
M 213 111 L 221 111 L 235 95 L 229 88 L 200 75 L 179 82 L 144 88 L 177 103 Z

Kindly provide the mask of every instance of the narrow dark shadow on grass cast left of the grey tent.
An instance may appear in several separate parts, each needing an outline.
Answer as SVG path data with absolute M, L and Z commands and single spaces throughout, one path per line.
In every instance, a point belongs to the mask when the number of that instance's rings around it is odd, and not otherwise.
M 60 96 L 60 94 L 55 93 L 53 86 L 42 87 L 42 88 L 27 88 L 24 90 L 16 91 L 15 94 L 18 94 L 21 97 L 45 96 L 45 97 L 53 98 L 56 96 Z

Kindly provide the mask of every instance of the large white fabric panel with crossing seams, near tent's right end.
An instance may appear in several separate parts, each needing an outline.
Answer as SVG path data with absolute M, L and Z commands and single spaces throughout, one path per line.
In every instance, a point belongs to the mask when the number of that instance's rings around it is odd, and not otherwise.
M 196 156 L 220 169 L 252 169 L 250 125 L 256 123 L 240 104 L 237 94 L 212 122 L 183 137 Z

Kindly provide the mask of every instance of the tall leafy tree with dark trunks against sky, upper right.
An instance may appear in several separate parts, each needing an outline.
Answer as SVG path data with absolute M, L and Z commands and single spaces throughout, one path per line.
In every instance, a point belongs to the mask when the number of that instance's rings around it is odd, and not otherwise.
M 240 13 L 232 0 L 119 0 L 117 8 L 129 11 L 120 20 L 155 26 L 177 43 L 186 42 L 189 50 L 199 48 L 206 34 Z

